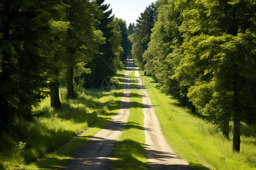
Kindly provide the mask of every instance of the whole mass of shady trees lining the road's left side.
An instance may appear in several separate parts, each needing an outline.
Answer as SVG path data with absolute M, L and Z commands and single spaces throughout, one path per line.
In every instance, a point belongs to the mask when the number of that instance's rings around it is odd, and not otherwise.
M 0 131 L 17 117 L 30 119 L 32 107 L 47 94 L 52 107 L 61 107 L 59 80 L 66 80 L 67 97 L 72 99 L 74 76 L 93 72 L 91 83 L 99 84 L 122 67 L 121 32 L 123 40 L 128 32 L 123 21 L 115 24 L 103 2 L 0 2 Z

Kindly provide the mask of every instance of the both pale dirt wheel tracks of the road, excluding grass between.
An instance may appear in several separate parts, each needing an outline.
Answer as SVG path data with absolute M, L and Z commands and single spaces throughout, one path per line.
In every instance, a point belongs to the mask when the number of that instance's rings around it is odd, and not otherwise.
M 86 144 L 80 147 L 72 156 L 72 160 L 61 170 L 108 170 L 110 168 L 110 160 L 114 159 L 110 156 L 113 145 L 121 135 L 130 115 L 131 80 L 129 79 L 129 73 L 131 70 L 133 70 L 133 62 L 128 60 L 122 105 L 119 113 L 113 117 L 104 129 L 100 130 Z M 154 107 L 147 91 L 143 87 L 142 79 L 139 77 L 138 69 L 135 70 L 135 75 L 142 94 L 143 113 L 145 115 L 144 128 L 147 129 L 144 131 L 145 146 L 150 169 L 189 170 L 186 162 L 179 159 L 166 143 Z

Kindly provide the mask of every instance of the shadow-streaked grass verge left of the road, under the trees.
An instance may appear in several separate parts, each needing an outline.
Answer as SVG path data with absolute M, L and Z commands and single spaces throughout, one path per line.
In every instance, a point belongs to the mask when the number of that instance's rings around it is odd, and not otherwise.
M 65 89 L 60 91 L 65 93 Z M 65 165 L 79 146 L 118 113 L 121 94 L 122 89 L 109 93 L 80 89 L 77 99 L 61 100 L 61 109 L 51 108 L 50 98 L 46 98 L 33 110 L 32 120 L 16 120 L 13 131 L 1 136 L 0 169 L 47 170 Z M 26 146 L 19 148 L 19 141 Z

